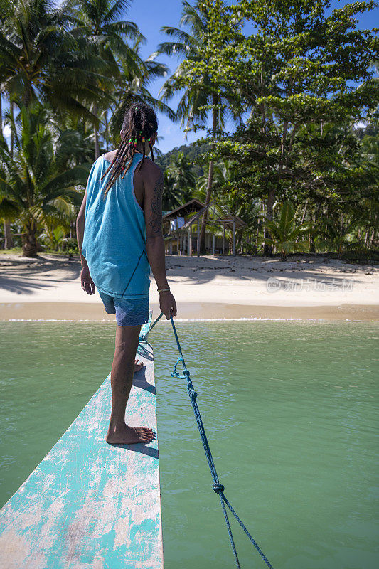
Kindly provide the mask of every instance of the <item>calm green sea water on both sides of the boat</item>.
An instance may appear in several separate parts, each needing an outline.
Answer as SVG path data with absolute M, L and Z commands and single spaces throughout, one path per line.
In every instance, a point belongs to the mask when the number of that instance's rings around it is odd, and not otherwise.
M 282 569 L 371 569 L 377 507 L 378 326 L 178 323 L 225 495 Z M 112 363 L 114 326 L 1 322 L 1 504 Z M 166 569 L 233 568 L 169 324 L 151 333 Z M 376 502 L 375 502 L 376 501 Z M 236 524 L 242 568 L 260 560 Z

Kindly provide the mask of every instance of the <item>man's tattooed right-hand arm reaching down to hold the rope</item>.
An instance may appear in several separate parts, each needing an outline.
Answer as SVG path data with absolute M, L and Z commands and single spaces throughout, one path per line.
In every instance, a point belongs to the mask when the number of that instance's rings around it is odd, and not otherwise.
M 149 264 L 159 290 L 169 289 L 164 260 L 164 239 L 162 235 L 162 193 L 164 177 L 159 166 L 146 161 L 143 169 L 144 216 L 146 223 L 146 251 Z M 144 166 L 145 166 L 144 164 Z M 176 302 L 169 290 L 159 293 L 159 307 L 166 319 L 171 312 L 176 316 Z

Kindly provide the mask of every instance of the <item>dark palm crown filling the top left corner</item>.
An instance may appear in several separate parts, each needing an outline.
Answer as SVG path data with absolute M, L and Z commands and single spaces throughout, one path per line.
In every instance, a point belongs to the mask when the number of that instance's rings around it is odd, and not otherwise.
M 70 33 L 72 2 L 4 0 L 0 90 L 26 107 L 43 101 L 56 117 L 70 112 L 92 120 L 87 103 L 101 96 L 95 79 L 105 63 L 90 52 L 86 38 Z

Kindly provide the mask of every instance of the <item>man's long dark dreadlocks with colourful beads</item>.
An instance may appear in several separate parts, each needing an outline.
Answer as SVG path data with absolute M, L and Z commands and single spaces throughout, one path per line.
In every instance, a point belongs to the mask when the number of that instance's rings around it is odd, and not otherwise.
M 112 164 L 110 164 L 107 171 L 105 171 L 105 174 L 101 177 L 101 179 L 103 179 L 104 176 L 112 170 L 105 189 L 105 196 L 120 175 L 124 178 L 127 170 L 129 170 L 132 164 L 136 147 L 139 142 L 142 142 L 143 148 L 142 160 L 139 162 L 139 168 L 141 168 L 145 159 L 145 142 L 149 142 L 151 159 L 154 161 L 153 147 L 150 139 L 157 129 L 158 121 L 156 119 L 156 114 L 149 105 L 142 102 L 135 102 L 127 107 L 124 114 L 124 121 L 122 122 L 121 144 L 117 149 L 117 153 L 116 156 L 114 156 Z

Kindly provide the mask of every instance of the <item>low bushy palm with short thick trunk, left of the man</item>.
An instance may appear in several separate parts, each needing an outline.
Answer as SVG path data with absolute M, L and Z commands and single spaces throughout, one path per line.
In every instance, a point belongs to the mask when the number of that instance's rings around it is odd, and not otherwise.
M 0 141 L 0 215 L 12 212 L 23 226 L 23 255 L 35 257 L 38 225 L 51 216 L 68 216 L 72 206 L 79 206 L 89 164 L 59 173 L 56 169 L 52 121 L 41 104 L 21 104 L 16 124 L 9 113 L 4 115 L 14 132 L 14 156 Z

